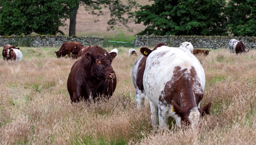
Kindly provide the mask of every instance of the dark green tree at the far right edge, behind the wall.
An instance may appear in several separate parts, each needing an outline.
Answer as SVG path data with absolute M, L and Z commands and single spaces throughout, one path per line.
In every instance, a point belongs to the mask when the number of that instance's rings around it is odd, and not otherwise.
M 234 36 L 256 36 L 255 0 L 232 0 L 225 10 L 228 30 Z

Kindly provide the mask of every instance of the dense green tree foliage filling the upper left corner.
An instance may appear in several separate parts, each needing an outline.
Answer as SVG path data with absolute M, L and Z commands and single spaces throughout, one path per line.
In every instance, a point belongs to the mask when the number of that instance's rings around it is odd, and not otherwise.
M 63 33 L 59 26 L 64 26 L 69 16 L 65 0 L 5 0 L 1 6 L 0 35 Z

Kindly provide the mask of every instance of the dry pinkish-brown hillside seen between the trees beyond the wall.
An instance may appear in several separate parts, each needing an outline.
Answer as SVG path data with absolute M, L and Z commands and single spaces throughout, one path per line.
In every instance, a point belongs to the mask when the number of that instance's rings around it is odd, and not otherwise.
M 152 2 L 149 0 L 138 0 L 140 5 L 150 5 Z M 137 9 L 139 10 L 139 8 Z M 85 8 L 81 5 L 78 9 L 77 14 L 77 25 L 76 25 L 76 35 L 77 36 L 104 36 L 110 37 L 119 33 L 124 33 L 125 35 L 134 36 L 138 32 L 142 31 L 145 26 L 141 24 L 130 23 L 128 26 L 133 29 L 133 32 L 128 32 L 125 26 L 116 26 L 114 31 L 107 31 L 107 21 L 110 18 L 110 11 L 106 8 L 103 9 L 103 14 L 101 16 L 93 17 L 85 11 Z M 99 20 L 99 22 L 94 22 L 94 19 Z M 68 26 L 60 27 L 60 30 L 64 32 L 66 36 L 69 35 L 69 19 L 66 21 Z

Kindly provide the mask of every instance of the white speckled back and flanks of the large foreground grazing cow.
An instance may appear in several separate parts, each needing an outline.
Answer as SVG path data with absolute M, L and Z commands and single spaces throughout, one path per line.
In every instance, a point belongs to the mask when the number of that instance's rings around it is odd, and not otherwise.
M 205 73 L 197 58 L 186 48 L 162 46 L 148 56 L 143 76 L 146 95 L 156 106 L 158 106 L 159 96 L 164 92 L 167 82 L 171 81 L 176 67 L 187 68 L 187 70 L 194 67 L 204 89 Z

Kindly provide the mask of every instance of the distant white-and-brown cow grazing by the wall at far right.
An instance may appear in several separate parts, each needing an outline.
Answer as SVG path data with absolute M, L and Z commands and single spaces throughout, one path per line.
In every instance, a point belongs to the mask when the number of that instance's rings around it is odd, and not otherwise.
M 238 53 L 241 54 L 242 52 L 246 53 L 249 51 L 249 50 L 248 51 L 245 50 L 245 45 L 244 45 L 243 41 L 239 41 L 236 39 L 231 39 L 229 41 L 228 48 L 229 48 L 230 53 L 235 52 L 236 54 L 238 54 Z

